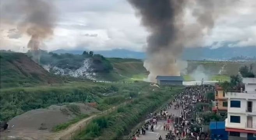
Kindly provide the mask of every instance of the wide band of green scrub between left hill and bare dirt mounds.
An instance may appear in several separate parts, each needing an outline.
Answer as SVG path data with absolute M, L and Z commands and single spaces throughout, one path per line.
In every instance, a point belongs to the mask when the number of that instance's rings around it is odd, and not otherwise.
M 56 86 L 34 86 L 27 88 L 5 88 L 0 90 L 0 120 L 9 120 L 23 112 L 45 108 L 53 104 L 71 102 L 99 102 L 104 110 L 125 101 L 133 94 L 148 87 L 148 83 L 92 83 L 73 82 Z M 72 112 L 79 114 L 74 106 Z

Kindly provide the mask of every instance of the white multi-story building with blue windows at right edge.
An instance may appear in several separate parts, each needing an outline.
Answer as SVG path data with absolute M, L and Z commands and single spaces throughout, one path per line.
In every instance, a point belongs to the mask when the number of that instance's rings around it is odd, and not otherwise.
M 230 139 L 256 140 L 256 78 L 243 78 L 243 83 L 244 91 L 226 92 L 228 118 L 225 127 Z

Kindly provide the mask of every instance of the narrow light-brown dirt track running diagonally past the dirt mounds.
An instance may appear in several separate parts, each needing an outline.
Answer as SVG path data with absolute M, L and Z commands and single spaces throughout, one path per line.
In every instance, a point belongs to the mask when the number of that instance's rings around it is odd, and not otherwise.
M 131 102 L 131 101 L 129 101 Z M 117 107 L 125 105 L 129 102 L 125 102 L 123 104 L 120 104 L 118 106 L 112 107 L 106 111 L 100 112 L 98 114 L 92 115 L 88 118 L 82 119 L 78 123 L 72 124 L 69 126 L 66 130 L 59 131 L 58 133 L 54 133 L 53 135 L 49 136 L 48 140 L 72 140 L 74 136 L 78 135 L 83 129 L 85 129 L 85 126 L 92 121 L 97 116 L 101 116 L 103 114 L 108 114 L 110 112 L 113 112 L 117 109 Z

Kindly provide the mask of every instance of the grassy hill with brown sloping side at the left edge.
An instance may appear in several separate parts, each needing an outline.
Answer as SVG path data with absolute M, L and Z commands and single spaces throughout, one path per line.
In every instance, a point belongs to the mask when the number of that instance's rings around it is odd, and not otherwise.
M 60 81 L 23 53 L 0 52 L 1 88 L 51 84 Z

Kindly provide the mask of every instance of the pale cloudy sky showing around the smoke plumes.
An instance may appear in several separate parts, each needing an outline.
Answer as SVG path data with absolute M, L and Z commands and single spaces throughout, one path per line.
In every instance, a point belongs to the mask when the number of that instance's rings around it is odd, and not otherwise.
M 0 1 L 1 9 L 6 1 Z M 147 47 L 149 32 L 141 25 L 141 17 L 126 0 L 52 0 L 51 4 L 57 15 L 53 35 L 43 40 L 41 49 L 123 48 L 141 52 Z M 255 7 L 256 0 L 238 1 L 230 12 L 216 19 L 214 28 L 203 37 L 203 42 L 185 47 L 256 46 Z M 1 15 L 5 14 L 7 11 L 1 11 Z M 4 16 L 0 18 L 0 49 L 23 52 L 24 47 L 26 51 L 30 36 L 21 33 L 16 22 L 7 24 L 2 22 Z M 184 16 L 184 22 L 193 22 L 190 14 Z

